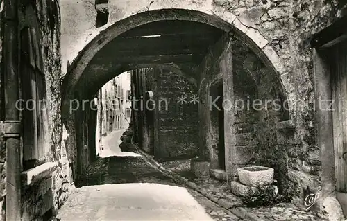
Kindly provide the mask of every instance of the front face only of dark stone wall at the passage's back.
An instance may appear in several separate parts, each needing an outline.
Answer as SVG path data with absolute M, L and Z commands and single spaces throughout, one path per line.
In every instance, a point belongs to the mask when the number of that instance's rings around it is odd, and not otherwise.
M 158 80 L 159 148 L 158 159 L 189 159 L 198 153 L 198 103 L 194 85 L 172 71 L 162 70 Z M 180 103 L 179 98 L 187 98 Z M 167 109 L 164 102 L 167 100 Z

